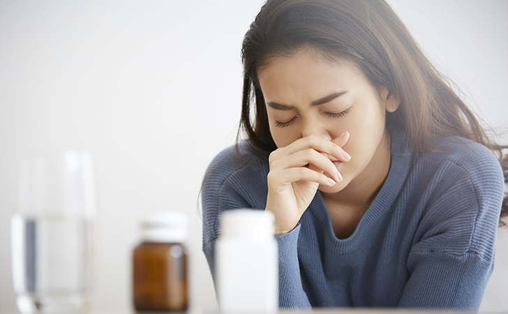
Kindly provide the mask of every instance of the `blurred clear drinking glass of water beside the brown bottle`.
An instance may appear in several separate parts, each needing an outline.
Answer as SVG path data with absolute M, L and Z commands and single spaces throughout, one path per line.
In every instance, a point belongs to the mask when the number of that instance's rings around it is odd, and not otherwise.
M 97 216 L 87 151 L 22 158 L 11 220 L 13 283 L 22 314 L 87 313 Z

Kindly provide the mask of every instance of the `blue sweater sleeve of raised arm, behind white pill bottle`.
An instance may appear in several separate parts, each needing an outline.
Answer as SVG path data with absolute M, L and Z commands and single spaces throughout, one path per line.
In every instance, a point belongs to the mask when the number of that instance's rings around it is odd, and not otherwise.
M 202 186 L 202 248 L 215 284 L 215 244 L 221 213 L 230 209 L 262 210 L 266 207 L 268 193 L 268 170 L 263 165 L 238 163 L 233 156 L 231 150 L 217 156 L 209 166 Z M 299 229 L 297 226 L 292 232 L 276 237 L 281 308 L 311 308 L 301 285 L 297 255 Z

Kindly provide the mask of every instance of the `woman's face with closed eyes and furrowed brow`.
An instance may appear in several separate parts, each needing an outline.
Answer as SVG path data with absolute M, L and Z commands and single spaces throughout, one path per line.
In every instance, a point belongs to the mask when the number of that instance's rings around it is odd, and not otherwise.
M 343 181 L 320 186 L 324 193 L 336 193 L 351 182 L 368 181 L 380 168 L 378 156 L 389 154 L 385 112 L 395 111 L 399 102 L 387 89 L 375 89 L 351 63 L 323 60 L 300 50 L 270 59 L 257 76 L 277 147 L 309 135 L 332 141 L 350 133 L 343 149 L 351 159 L 337 165 Z

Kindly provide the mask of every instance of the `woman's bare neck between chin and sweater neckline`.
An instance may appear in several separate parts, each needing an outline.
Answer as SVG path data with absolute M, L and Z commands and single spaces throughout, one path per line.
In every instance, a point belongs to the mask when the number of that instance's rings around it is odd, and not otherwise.
M 322 193 L 323 199 L 340 207 L 368 209 L 381 190 L 390 170 L 390 134 L 384 130 L 378 149 L 357 178 L 338 193 Z

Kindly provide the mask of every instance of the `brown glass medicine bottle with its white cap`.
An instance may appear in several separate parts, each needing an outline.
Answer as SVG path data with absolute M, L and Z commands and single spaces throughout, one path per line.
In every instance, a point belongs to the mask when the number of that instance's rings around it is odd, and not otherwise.
M 133 252 L 136 311 L 186 311 L 187 217 L 177 212 L 142 220 L 142 243 Z

